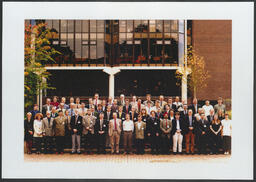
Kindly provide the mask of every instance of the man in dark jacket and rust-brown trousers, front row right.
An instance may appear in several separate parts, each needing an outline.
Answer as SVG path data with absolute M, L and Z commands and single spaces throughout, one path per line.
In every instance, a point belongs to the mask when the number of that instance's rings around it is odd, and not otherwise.
M 186 154 L 191 152 L 195 153 L 195 131 L 196 131 L 196 119 L 193 116 L 193 111 L 188 110 L 188 115 L 185 116 L 185 137 L 186 137 Z

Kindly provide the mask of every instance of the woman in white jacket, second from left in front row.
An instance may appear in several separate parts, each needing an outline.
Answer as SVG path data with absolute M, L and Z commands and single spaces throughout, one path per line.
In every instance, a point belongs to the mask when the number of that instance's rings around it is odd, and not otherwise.
M 35 120 L 33 124 L 33 128 L 34 128 L 33 137 L 35 140 L 37 154 L 40 154 L 42 150 L 42 138 L 44 133 L 44 125 L 43 125 L 42 119 L 43 119 L 43 115 L 41 113 L 37 113 L 35 115 Z

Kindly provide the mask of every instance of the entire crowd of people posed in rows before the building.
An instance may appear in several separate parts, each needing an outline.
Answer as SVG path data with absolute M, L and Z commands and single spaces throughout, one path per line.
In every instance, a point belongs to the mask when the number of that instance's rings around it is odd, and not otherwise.
M 119 154 L 120 143 L 124 154 L 133 153 L 133 146 L 136 154 L 144 154 L 145 146 L 152 154 L 170 154 L 171 146 L 173 154 L 182 154 L 183 142 L 186 154 L 231 152 L 232 124 L 221 97 L 214 106 L 209 100 L 200 106 L 196 98 L 188 106 L 179 97 L 165 101 L 163 95 L 153 102 L 150 94 L 142 102 L 136 96 L 125 99 L 123 94 L 119 99 L 100 100 L 96 93 L 88 104 L 73 97 L 69 104 L 65 97 L 58 102 L 54 96 L 52 101 L 46 99 L 42 112 L 35 104 L 24 125 L 28 154 L 33 140 L 37 154 L 64 153 L 67 139 L 72 140 L 71 154 L 81 154 L 81 148 L 105 154 L 108 147 L 111 154 Z

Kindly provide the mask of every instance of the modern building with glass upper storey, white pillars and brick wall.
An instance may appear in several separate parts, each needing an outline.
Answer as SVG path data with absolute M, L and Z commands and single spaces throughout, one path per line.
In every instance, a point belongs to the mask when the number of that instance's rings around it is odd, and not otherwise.
M 177 86 L 175 71 L 185 66 L 186 47 L 193 45 L 205 57 L 212 76 L 198 98 L 231 98 L 231 21 L 26 21 L 38 22 L 47 23 L 47 28 L 55 32 L 51 43 L 62 53 L 46 65 L 52 74 L 49 83 L 56 87 L 47 91 L 48 96 L 151 93 L 187 100 L 187 85 Z M 215 90 L 214 94 L 209 88 Z

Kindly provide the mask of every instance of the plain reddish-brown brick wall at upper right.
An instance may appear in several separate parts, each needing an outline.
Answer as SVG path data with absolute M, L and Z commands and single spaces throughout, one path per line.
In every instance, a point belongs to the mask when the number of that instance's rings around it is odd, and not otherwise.
M 231 31 L 231 20 L 192 21 L 193 47 L 205 58 L 211 75 L 207 88 L 198 91 L 198 99 L 231 99 Z

